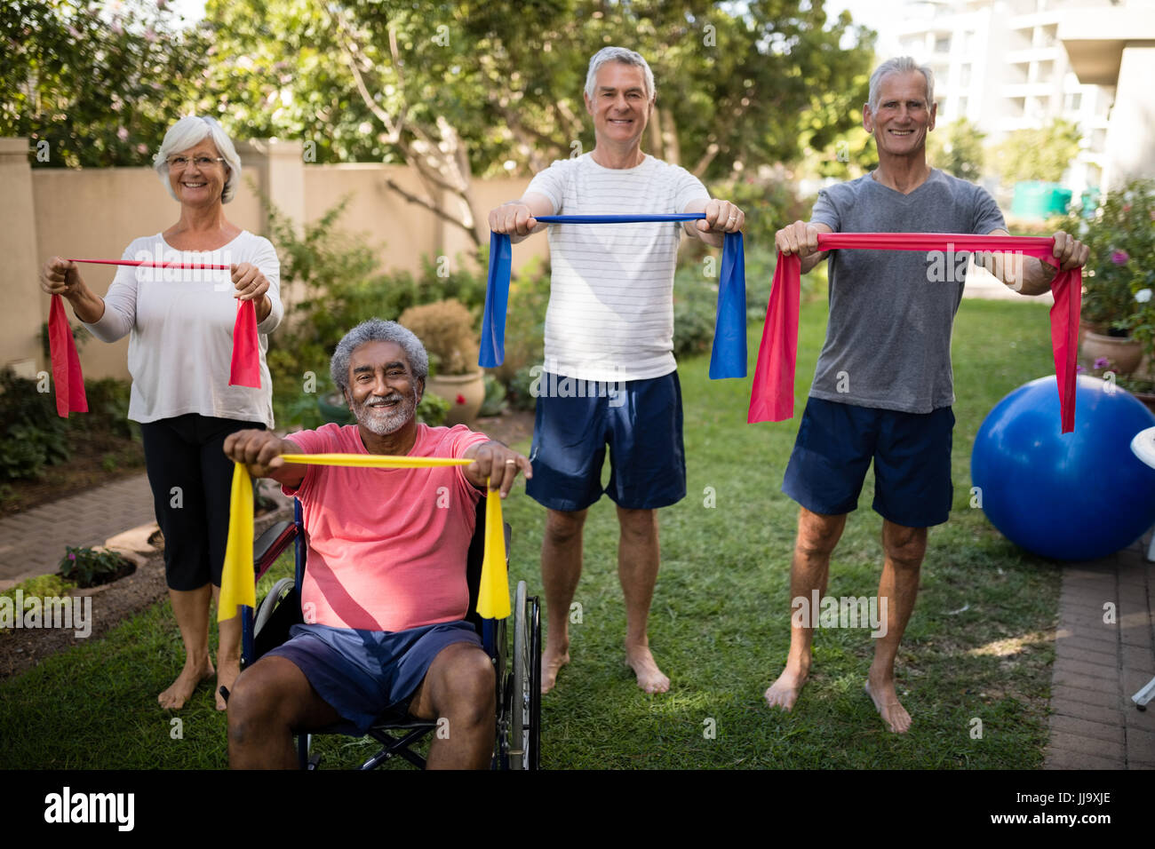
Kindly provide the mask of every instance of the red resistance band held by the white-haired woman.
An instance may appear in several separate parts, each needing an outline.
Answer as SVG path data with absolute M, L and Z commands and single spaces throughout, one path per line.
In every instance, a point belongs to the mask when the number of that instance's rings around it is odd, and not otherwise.
M 149 266 L 155 268 L 208 268 L 229 270 L 230 266 L 198 265 L 191 262 L 150 262 L 142 260 L 69 260 L 96 262 L 105 266 Z M 73 340 L 68 316 L 59 295 L 52 296 L 49 310 L 49 351 L 52 356 L 52 379 L 57 389 L 57 412 L 68 418 L 69 412 L 88 412 L 84 396 L 84 375 L 80 370 L 76 342 Z M 229 386 L 261 388 L 261 356 L 256 338 L 256 303 L 252 299 L 237 305 L 237 321 L 232 328 L 232 363 Z

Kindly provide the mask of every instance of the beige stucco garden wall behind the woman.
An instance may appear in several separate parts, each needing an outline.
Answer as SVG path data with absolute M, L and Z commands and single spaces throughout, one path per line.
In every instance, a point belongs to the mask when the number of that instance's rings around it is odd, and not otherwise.
M 386 185 L 392 178 L 407 192 L 425 196 L 409 169 L 379 163 L 316 165 L 305 163 L 299 143 L 238 143 L 243 178 L 236 199 L 225 207 L 229 221 L 268 234 L 262 195 L 295 221 L 315 222 L 349 195 L 340 229 L 364 236 L 379 251 L 386 270 L 420 269 L 422 255 L 469 261 L 472 240 L 419 204 L 409 203 Z M 0 273 L 0 367 L 14 365 L 31 377 L 49 370 L 39 342 L 50 299 L 38 274 L 53 255 L 119 259 L 128 243 L 169 229 L 180 215 L 156 172 L 149 167 L 32 169 L 27 139 L 0 139 L 0 250 L 9 258 Z M 526 179 L 475 181 L 472 193 L 480 230 L 491 207 L 517 198 Z M 487 237 L 486 237 L 487 238 Z M 544 236 L 514 247 L 515 267 L 547 253 Z M 85 265 L 81 274 L 98 295 L 107 291 L 113 266 Z M 68 308 L 70 321 L 75 322 Z M 127 338 L 106 344 L 89 340 L 81 350 L 87 377 L 127 378 Z

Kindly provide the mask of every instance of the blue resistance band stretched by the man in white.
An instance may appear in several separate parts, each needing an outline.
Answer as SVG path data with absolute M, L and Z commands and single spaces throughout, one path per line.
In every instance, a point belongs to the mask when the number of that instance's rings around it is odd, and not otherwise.
M 705 213 L 680 215 L 539 215 L 546 224 L 634 224 L 643 222 L 701 221 Z M 478 364 L 495 368 L 505 362 L 506 311 L 513 248 L 507 233 L 490 233 L 490 275 L 482 316 Z M 725 233 L 722 274 L 710 352 L 710 379 L 746 377 L 746 253 L 742 233 Z

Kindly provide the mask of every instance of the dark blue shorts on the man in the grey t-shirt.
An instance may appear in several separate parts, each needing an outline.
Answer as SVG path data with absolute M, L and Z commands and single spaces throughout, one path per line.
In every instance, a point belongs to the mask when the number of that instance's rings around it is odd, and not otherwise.
M 954 412 L 899 412 L 811 397 L 782 491 L 813 513 L 858 507 L 874 461 L 874 512 L 908 528 L 941 524 L 951 512 Z

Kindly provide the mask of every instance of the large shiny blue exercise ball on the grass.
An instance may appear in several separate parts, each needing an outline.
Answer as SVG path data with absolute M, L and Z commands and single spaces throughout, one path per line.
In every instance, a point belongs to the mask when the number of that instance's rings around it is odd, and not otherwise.
M 1011 542 L 1057 560 L 1093 560 L 1155 523 L 1155 469 L 1131 453 L 1155 415 L 1131 393 L 1080 377 L 1075 429 L 1059 433 L 1055 377 L 1020 386 L 975 437 L 970 479 Z

